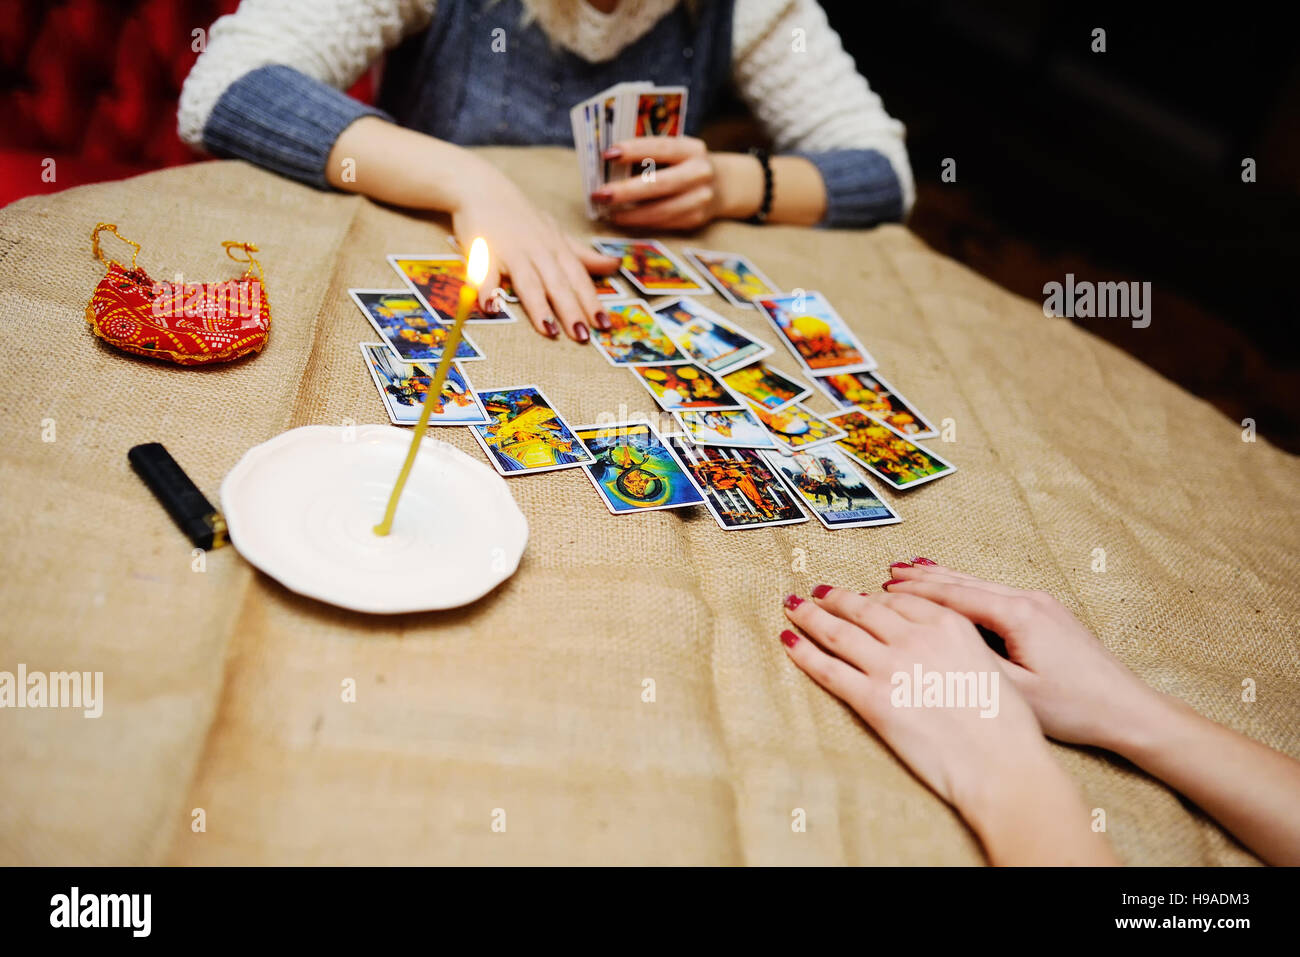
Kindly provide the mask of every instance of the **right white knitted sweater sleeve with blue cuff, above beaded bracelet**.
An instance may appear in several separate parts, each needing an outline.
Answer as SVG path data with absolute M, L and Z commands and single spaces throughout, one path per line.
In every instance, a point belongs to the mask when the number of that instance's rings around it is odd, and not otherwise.
M 904 125 L 858 73 L 816 0 L 736 0 L 732 79 L 776 150 L 820 170 L 823 225 L 907 216 L 915 187 Z

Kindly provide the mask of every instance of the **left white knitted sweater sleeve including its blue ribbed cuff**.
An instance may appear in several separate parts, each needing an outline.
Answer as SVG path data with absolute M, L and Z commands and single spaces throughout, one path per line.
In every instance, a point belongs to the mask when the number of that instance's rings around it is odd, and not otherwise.
M 339 134 L 380 111 L 347 96 L 436 0 L 243 0 L 208 31 L 181 90 L 181 139 L 313 186 Z

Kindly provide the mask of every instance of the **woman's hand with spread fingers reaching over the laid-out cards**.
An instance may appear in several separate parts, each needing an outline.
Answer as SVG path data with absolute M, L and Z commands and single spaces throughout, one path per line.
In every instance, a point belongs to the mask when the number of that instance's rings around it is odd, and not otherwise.
M 586 342 L 590 324 L 610 328 L 590 274 L 616 270 L 616 256 L 602 256 L 567 235 L 486 163 L 463 173 L 460 186 L 450 209 L 456 239 L 468 250 L 473 238 L 481 235 L 491 250 L 488 278 L 480 291 L 482 307 L 489 306 L 504 274 L 533 328 L 543 335 L 554 339 L 563 328 L 575 342 Z

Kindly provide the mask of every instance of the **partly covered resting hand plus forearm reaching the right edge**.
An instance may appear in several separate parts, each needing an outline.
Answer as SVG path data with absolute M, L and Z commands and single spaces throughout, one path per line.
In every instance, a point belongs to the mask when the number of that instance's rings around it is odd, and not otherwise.
M 1300 865 L 1300 762 L 1149 688 L 1046 592 L 928 559 L 897 575 L 889 601 L 926 601 L 1002 638 L 1002 672 L 1052 737 L 1115 752 L 1268 863 Z

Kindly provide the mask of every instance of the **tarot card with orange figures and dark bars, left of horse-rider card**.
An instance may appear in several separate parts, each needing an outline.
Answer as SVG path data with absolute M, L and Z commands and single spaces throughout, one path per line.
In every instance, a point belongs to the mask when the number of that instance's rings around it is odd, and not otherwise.
M 668 445 L 702 493 L 723 531 L 807 521 L 798 499 L 753 449 L 711 449 L 679 438 Z

